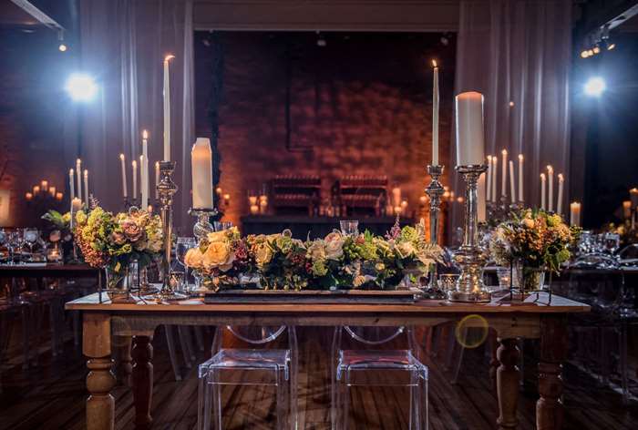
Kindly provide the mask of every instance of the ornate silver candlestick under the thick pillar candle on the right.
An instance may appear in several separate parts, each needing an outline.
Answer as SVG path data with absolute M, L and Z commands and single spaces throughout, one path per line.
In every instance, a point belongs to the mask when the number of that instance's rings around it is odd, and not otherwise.
M 448 292 L 451 302 L 489 302 L 490 294 L 483 284 L 483 266 L 487 252 L 478 244 L 478 177 L 487 170 L 485 165 L 457 166 L 467 184 L 465 191 L 465 228 L 463 244 L 454 255 L 461 268 L 455 290 Z

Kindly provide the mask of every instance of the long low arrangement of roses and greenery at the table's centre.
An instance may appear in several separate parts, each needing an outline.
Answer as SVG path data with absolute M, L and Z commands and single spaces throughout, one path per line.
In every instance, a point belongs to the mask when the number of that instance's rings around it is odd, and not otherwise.
M 237 287 L 242 274 L 274 290 L 394 289 L 406 271 L 425 273 L 441 254 L 425 240 L 422 224 L 395 226 L 385 238 L 334 230 L 314 241 L 293 239 L 290 230 L 242 238 L 233 228 L 210 233 L 187 252 L 185 262 L 214 291 Z

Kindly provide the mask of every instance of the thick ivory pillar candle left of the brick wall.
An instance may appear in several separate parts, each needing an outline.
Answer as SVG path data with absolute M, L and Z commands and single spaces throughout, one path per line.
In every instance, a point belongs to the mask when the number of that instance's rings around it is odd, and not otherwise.
M 212 150 L 211 140 L 197 138 L 190 151 L 192 171 L 192 207 L 212 208 Z

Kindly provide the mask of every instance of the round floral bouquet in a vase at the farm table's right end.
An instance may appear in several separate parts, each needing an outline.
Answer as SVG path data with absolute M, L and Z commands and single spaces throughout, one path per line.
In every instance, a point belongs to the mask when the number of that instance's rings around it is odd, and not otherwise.
M 513 212 L 501 222 L 489 241 L 492 258 L 501 266 L 516 264 L 523 291 L 537 290 L 545 271 L 559 272 L 570 260 L 569 247 L 580 229 L 569 227 L 561 215 L 544 210 Z

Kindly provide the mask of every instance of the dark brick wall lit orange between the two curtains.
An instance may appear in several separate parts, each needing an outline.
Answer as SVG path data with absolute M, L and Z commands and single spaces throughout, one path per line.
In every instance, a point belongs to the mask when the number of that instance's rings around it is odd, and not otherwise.
M 335 179 L 385 174 L 417 209 L 431 160 L 430 60 L 441 67 L 441 162 L 448 165 L 453 39 L 439 34 L 222 33 L 196 37 L 198 136 L 211 135 L 211 73 L 221 43 L 221 188 L 227 218 L 248 212 L 246 193 L 275 175 Z M 220 41 L 220 42 L 218 42 Z M 287 145 L 286 87 L 290 85 Z

